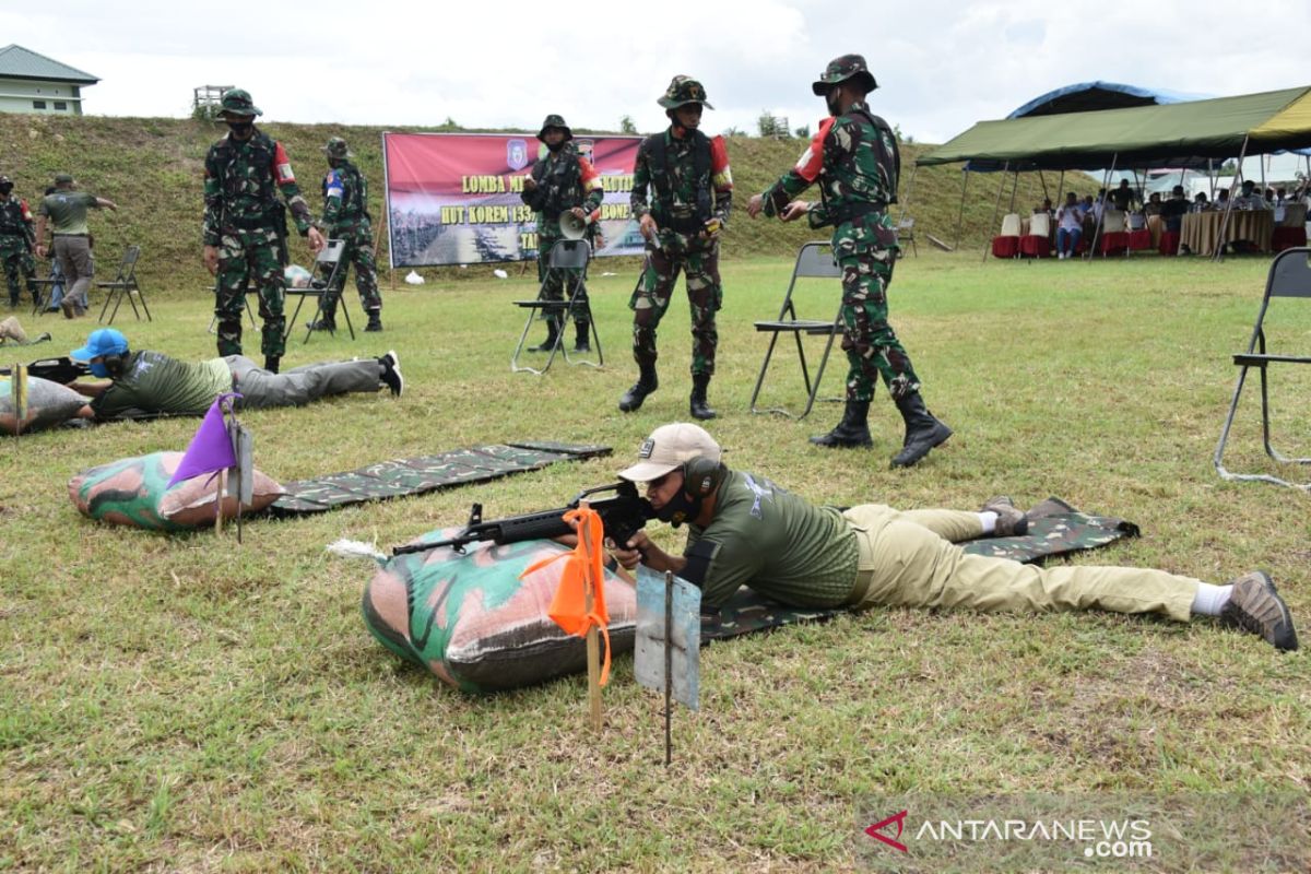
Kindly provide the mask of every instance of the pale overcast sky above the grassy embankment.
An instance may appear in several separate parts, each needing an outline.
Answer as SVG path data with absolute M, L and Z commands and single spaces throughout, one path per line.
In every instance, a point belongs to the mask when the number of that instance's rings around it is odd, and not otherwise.
M 665 126 L 675 73 L 707 88 L 704 128 L 762 110 L 812 130 L 827 60 L 861 52 L 874 111 L 924 143 L 1030 98 L 1104 80 L 1201 96 L 1304 85 L 1311 3 L 918 0 L 190 0 L 5 3 L 0 43 L 89 72 L 85 110 L 184 117 L 197 85 L 240 85 L 267 121 L 536 130 Z

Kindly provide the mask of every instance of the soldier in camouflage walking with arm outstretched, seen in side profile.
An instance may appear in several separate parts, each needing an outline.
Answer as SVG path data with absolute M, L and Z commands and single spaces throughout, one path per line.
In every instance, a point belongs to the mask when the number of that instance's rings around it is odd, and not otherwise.
M 901 156 L 888 122 L 873 115 L 865 94 L 877 88 L 860 55 L 830 62 L 812 90 L 829 104 L 797 165 L 747 212 L 791 221 L 805 215 L 812 228 L 832 225 L 832 250 L 842 267 L 842 347 L 847 352 L 847 406 L 829 434 L 810 438 L 825 447 L 869 447 L 869 401 L 881 377 L 906 422 L 902 449 L 893 466 L 910 466 L 952 435 L 924 408 L 910 356 L 888 324 L 888 284 L 899 252 L 888 206 L 897 202 Z M 794 198 L 819 183 L 818 204 Z

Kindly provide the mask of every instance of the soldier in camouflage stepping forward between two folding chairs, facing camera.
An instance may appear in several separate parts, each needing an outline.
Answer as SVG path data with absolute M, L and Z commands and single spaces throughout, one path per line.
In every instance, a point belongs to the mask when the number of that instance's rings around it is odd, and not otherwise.
M 646 261 L 628 307 L 633 311 L 633 360 L 637 383 L 619 400 L 631 413 L 656 390 L 656 328 L 669 309 L 680 270 L 687 273 L 692 307 L 694 418 L 712 419 L 705 392 L 714 373 L 718 330 L 714 313 L 724 303 L 720 284 L 720 231 L 733 204 L 733 173 L 724 138 L 700 130 L 705 89 L 687 76 L 674 76 L 657 101 L 670 118 L 669 130 L 646 138 L 637 151 L 632 210 L 646 238 Z M 650 203 L 648 187 L 653 189 Z

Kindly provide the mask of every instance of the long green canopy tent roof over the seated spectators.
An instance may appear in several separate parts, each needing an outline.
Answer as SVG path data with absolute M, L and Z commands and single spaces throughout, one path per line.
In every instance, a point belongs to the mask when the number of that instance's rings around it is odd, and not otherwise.
M 1186 166 L 1311 147 L 1311 86 L 1163 106 L 979 122 L 915 168 L 992 161 L 1004 172 Z M 1000 206 L 1000 190 L 998 191 Z M 1227 220 L 1227 216 L 1226 216 Z

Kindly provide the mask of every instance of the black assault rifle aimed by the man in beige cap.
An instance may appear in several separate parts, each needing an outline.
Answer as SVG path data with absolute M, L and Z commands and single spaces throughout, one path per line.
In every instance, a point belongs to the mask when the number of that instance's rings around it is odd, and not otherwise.
M 637 494 L 637 486 L 627 480 L 621 480 L 608 486 L 595 486 L 585 489 L 558 510 L 543 510 L 530 512 L 523 516 L 510 516 L 509 519 L 482 520 L 482 504 L 473 504 L 469 512 L 469 523 L 464 531 L 447 537 L 446 540 L 425 540 L 417 544 L 393 546 L 393 556 L 409 556 L 412 553 L 427 552 L 442 546 L 451 546 L 455 552 L 464 554 L 467 544 L 490 540 L 499 545 L 517 544 L 523 540 L 545 540 L 560 535 L 572 535 L 573 528 L 564 520 L 564 515 L 570 510 L 577 510 L 578 503 L 600 491 L 614 491 L 610 498 L 590 501 L 589 506 L 600 514 L 600 522 L 606 527 L 606 537 L 616 544 L 625 542 L 629 537 L 642 529 L 648 519 L 656 518 L 652 502 Z

